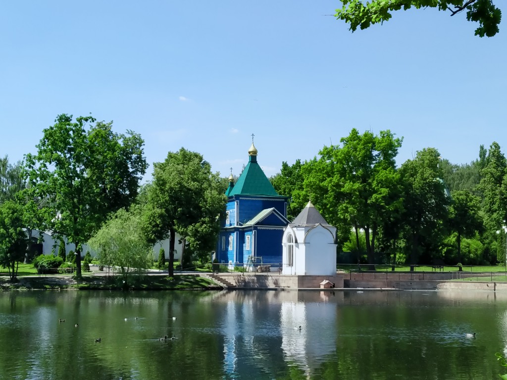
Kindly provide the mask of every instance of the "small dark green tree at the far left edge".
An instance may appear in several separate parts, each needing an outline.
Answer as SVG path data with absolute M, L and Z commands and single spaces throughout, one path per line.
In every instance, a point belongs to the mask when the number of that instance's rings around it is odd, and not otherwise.
M 23 207 L 15 201 L 0 205 L 0 265 L 8 268 L 11 280 L 16 279 L 18 263 L 25 257 L 27 236 Z

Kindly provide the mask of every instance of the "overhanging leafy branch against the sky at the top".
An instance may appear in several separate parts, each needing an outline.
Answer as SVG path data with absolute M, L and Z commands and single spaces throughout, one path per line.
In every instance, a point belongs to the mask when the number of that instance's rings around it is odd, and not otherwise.
M 366 4 L 362 0 L 342 0 L 342 4 L 343 7 L 336 10 L 335 16 L 348 23 L 352 31 L 357 27 L 366 29 L 372 24 L 382 24 L 391 18 L 392 11 L 406 11 L 412 7 L 450 11 L 451 16 L 466 10 L 466 19 L 479 23 L 475 35 L 480 37 L 491 37 L 498 33 L 501 19 L 501 11 L 492 0 L 372 0 Z

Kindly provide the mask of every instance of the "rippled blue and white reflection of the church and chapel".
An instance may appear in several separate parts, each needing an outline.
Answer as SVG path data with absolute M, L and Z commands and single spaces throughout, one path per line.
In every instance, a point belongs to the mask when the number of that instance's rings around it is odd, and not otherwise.
M 232 291 L 215 297 L 214 302 L 227 303 L 221 330 L 228 378 L 279 373 L 274 363 L 280 362 L 310 377 L 336 355 L 338 305 L 343 301 L 337 298 L 343 293 L 328 290 L 253 291 L 248 296 Z

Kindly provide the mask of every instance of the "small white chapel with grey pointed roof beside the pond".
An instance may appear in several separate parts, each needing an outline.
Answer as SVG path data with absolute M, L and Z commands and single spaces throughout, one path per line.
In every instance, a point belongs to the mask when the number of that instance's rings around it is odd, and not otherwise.
M 283 275 L 336 275 L 336 227 L 308 202 L 282 238 Z

